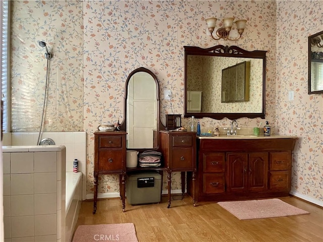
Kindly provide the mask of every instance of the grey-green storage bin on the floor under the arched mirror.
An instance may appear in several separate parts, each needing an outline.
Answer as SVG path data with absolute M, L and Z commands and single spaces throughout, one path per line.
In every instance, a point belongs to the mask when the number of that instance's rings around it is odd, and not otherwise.
M 126 196 L 131 205 L 159 203 L 161 200 L 161 180 L 158 172 L 140 172 L 128 175 Z

